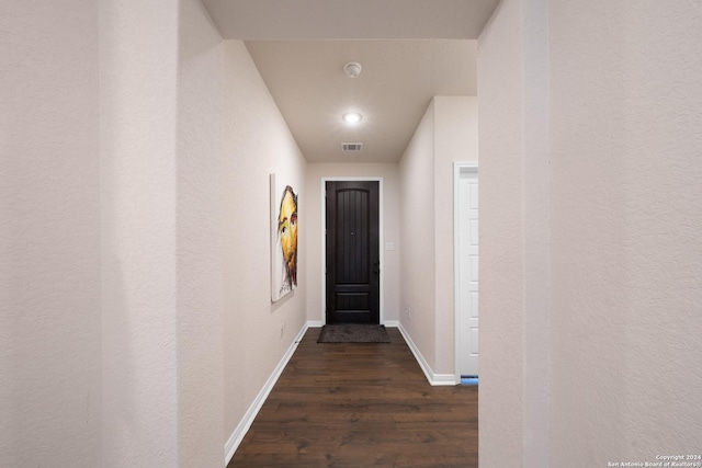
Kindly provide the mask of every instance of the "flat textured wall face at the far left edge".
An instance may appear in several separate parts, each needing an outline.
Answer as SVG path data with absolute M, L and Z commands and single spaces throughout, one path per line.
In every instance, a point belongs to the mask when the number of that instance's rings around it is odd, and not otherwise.
M 100 465 L 98 8 L 0 4 L 0 466 Z

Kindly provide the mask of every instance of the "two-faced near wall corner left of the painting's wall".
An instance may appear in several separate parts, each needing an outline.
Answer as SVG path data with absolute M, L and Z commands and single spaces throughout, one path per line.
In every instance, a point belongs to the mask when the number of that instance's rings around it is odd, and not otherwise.
M 102 465 L 215 466 L 222 38 L 195 0 L 100 7 Z

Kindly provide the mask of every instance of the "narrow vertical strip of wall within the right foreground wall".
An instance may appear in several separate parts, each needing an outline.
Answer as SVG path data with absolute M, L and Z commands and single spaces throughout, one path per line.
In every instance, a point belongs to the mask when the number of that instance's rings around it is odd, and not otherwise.
M 524 466 L 548 458 L 551 385 L 551 171 L 548 153 L 548 0 L 522 12 L 524 206 Z

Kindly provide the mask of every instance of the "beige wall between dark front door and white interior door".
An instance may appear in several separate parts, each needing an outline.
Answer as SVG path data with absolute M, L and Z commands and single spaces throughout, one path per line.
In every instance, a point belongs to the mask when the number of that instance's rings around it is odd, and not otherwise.
M 446 379 L 455 372 L 453 162 L 477 159 L 476 99 L 437 96 L 399 163 L 400 320 L 431 372 Z

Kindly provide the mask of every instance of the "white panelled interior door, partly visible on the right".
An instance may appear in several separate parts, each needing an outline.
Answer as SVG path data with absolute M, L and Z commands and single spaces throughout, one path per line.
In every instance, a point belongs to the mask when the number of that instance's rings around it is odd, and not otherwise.
M 463 169 L 458 179 L 460 370 L 478 375 L 478 174 Z

